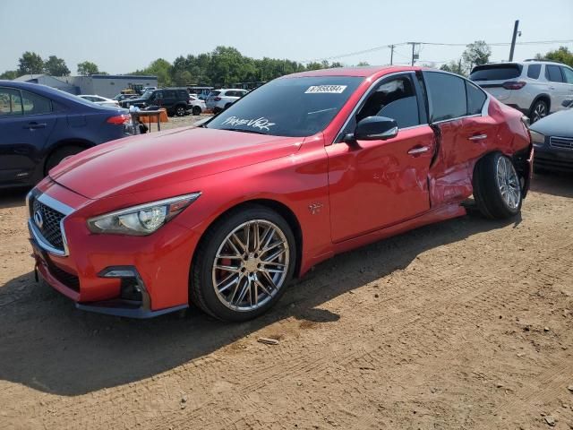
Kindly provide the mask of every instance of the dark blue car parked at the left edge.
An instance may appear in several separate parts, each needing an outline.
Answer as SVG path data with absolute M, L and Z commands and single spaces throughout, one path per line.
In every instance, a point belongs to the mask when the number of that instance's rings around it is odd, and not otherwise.
M 34 185 L 62 159 L 128 135 L 128 122 L 125 109 L 0 81 L 0 187 Z

